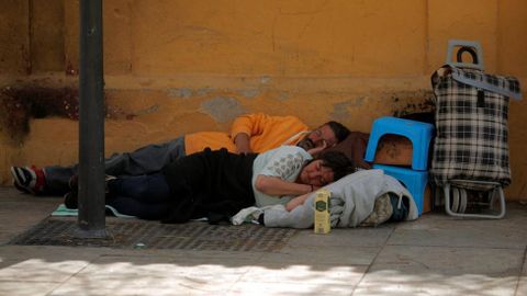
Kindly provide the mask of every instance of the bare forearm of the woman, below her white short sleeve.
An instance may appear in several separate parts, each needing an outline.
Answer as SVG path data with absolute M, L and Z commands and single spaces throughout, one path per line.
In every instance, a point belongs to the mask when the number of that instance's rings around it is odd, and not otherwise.
M 301 195 L 317 190 L 317 186 L 299 184 L 281 180 L 278 177 L 259 174 L 256 178 L 256 189 L 271 196 Z

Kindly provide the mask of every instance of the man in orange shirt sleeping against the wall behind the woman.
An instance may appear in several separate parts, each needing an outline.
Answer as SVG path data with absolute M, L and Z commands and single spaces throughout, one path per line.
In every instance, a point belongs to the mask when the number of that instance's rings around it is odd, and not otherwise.
M 158 172 L 165 164 L 180 157 L 202 151 L 227 148 L 237 153 L 260 153 L 282 145 L 296 145 L 317 152 L 344 140 L 349 130 L 337 122 L 327 122 L 314 130 L 295 116 L 270 116 L 264 113 L 238 116 L 231 133 L 201 132 L 176 139 L 147 145 L 133 152 L 114 153 L 104 160 L 108 175 L 141 175 Z M 38 195 L 63 195 L 69 192 L 69 179 L 77 173 L 77 164 L 44 168 L 11 167 L 13 185 L 22 192 Z

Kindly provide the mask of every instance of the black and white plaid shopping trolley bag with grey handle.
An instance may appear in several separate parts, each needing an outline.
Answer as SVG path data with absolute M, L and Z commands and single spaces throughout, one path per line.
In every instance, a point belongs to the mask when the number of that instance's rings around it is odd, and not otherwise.
M 453 49 L 457 62 L 451 62 Z M 472 64 L 462 62 L 470 54 Z M 520 100 L 514 77 L 483 71 L 478 43 L 450 41 L 447 65 L 433 73 L 436 138 L 430 178 L 438 186 L 487 191 L 511 183 L 508 101 Z

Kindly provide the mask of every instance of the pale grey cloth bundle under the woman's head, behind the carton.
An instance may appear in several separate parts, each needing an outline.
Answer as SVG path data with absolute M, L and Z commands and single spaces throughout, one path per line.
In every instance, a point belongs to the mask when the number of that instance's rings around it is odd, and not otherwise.
M 375 209 L 375 201 L 390 201 L 386 196 L 395 196 L 391 213 L 406 207 L 403 220 L 418 218 L 417 206 L 411 193 L 394 178 L 384 174 L 382 170 L 362 170 L 349 174 L 337 182 L 325 186 L 332 193 L 329 201 L 330 220 L 333 228 L 357 227 L 371 218 Z M 298 196 L 285 205 L 274 205 L 265 208 L 244 209 L 233 218 L 233 224 L 245 220 L 249 214 L 264 213 L 266 227 L 310 228 L 314 223 L 315 193 Z M 393 198 L 392 198 L 393 200 Z M 257 213 L 258 214 L 258 213 Z M 385 217 L 380 223 L 388 220 Z M 379 221 L 374 225 L 378 225 Z

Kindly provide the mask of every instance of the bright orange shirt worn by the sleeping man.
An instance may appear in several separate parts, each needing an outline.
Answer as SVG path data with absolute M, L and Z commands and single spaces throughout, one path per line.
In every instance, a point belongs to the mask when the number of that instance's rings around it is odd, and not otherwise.
M 231 128 L 231 134 L 221 132 L 201 132 L 184 136 L 187 155 L 211 149 L 227 148 L 235 152 L 234 138 L 239 133 L 250 137 L 250 148 L 254 152 L 264 152 L 281 145 L 295 145 L 301 133 L 310 128 L 295 116 L 270 116 L 264 113 L 238 116 Z M 296 136 L 298 135 L 298 136 Z

